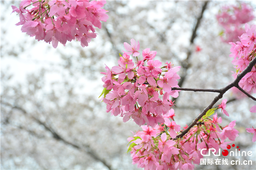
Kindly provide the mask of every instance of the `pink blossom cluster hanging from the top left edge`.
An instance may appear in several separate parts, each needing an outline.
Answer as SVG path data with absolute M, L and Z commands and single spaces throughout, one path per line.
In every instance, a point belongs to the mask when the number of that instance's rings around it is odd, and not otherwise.
M 38 41 L 57 48 L 58 42 L 65 46 L 75 40 L 85 47 L 96 37 L 94 27 L 101 28 L 100 21 L 108 19 L 104 4 L 105 0 L 22 0 L 19 8 L 12 5 L 12 12 L 20 16 L 16 25 L 22 25 L 21 31 Z

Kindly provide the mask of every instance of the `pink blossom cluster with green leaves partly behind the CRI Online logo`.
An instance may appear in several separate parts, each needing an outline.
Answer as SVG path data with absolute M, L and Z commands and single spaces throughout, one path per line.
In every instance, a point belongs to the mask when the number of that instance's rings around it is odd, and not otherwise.
M 225 139 L 234 141 L 239 136 L 234 128 L 236 121 L 225 127 L 220 126 L 222 119 L 217 117 L 217 113 L 209 118 L 216 109 L 210 109 L 181 138 L 177 135 L 188 126 L 180 130 L 180 125 L 174 121 L 173 109 L 168 111 L 168 115 L 163 115 L 164 123 L 154 128 L 141 126 L 142 131 L 133 133 L 133 137 L 127 139 L 131 143 L 128 152 L 131 152 L 132 163 L 144 169 L 195 169 L 195 164 L 200 163 L 202 154 L 207 154 L 209 148 L 214 148 L 216 154 L 220 148 L 227 149 L 227 144 L 231 142 L 225 142 Z

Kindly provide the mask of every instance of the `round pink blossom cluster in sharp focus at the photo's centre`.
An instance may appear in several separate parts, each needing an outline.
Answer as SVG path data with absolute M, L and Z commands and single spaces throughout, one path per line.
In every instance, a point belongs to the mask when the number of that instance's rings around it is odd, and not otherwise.
M 120 115 L 123 122 L 133 119 L 139 126 L 147 123 L 155 127 L 164 123 L 163 115 L 174 106 L 170 96 L 179 96 L 179 91 L 171 87 L 178 87 L 180 66 L 173 67 L 172 63 L 166 62 L 160 68 L 162 63 L 154 60 L 156 51 L 150 51 L 150 48 L 144 49 L 143 58 L 138 59 L 140 43 L 134 39 L 131 39 L 131 45 L 124 42 L 124 48 L 127 51 L 120 55 L 118 66 L 112 69 L 106 66 L 107 72 L 101 72 L 104 74 L 102 100 L 107 104 L 107 112 Z M 130 55 L 134 56 L 133 60 Z

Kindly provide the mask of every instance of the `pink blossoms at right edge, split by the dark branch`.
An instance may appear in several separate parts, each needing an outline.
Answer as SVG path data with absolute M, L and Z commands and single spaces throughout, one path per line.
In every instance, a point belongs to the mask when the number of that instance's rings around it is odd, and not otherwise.
M 236 43 L 230 42 L 231 54 L 229 56 L 234 58 L 232 63 L 236 65 L 236 72 L 233 74 L 234 78 L 248 66 L 256 55 L 256 25 L 250 28 L 248 24 L 245 24 L 245 31 L 246 33 L 239 37 L 240 41 Z M 253 91 L 253 93 L 256 93 L 255 67 L 240 80 L 239 86 L 247 92 Z

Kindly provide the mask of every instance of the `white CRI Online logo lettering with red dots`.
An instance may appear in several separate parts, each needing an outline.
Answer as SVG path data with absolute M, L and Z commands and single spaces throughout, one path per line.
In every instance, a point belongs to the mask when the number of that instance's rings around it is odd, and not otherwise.
M 235 147 L 235 144 L 232 144 L 232 147 Z M 228 146 L 227 146 L 227 149 L 230 149 L 230 148 L 231 148 L 231 146 L 228 145 Z M 239 146 L 236 146 L 236 148 L 238 149 Z M 237 149 L 236 149 L 236 156 L 240 156 L 240 149 L 238 149 L 238 155 L 237 155 Z M 205 149 L 201 149 L 201 154 L 202 154 L 203 156 L 210 156 L 210 155 L 211 155 L 211 150 L 212 150 L 212 153 L 213 153 L 214 156 L 220 156 L 220 149 L 219 149 L 219 154 L 215 154 L 215 153 L 217 153 L 216 150 L 215 150 L 214 148 L 209 148 L 209 152 L 208 152 L 207 155 L 204 155 L 204 154 L 202 153 L 204 150 L 207 150 L 207 149 L 206 149 L 206 148 L 205 148 Z M 233 153 L 233 155 L 232 155 L 231 153 Z M 223 156 L 228 156 L 228 150 L 223 150 L 223 151 L 222 151 L 222 155 L 223 155 Z M 252 151 L 248 151 L 247 155 L 248 155 L 248 156 L 252 156 Z M 229 153 L 229 156 L 235 156 L 235 152 L 234 152 L 234 151 L 231 151 L 231 152 Z M 246 152 L 243 151 L 241 156 L 246 156 Z

